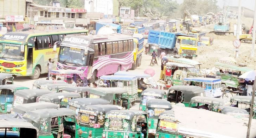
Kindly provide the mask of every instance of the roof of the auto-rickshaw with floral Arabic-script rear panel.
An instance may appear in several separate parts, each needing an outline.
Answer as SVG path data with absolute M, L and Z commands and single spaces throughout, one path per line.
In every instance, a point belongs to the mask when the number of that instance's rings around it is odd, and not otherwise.
M 146 115 L 146 114 L 147 112 L 140 111 L 140 110 L 112 110 L 106 113 L 105 118 L 117 118 L 119 116 L 115 116 L 115 115 L 120 115 L 121 119 L 131 120 L 134 116 Z

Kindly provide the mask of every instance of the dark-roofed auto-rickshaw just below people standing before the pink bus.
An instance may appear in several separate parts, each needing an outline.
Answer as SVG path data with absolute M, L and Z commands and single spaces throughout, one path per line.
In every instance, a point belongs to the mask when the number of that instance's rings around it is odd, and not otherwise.
M 62 92 L 76 92 L 81 95 L 82 98 L 88 98 L 90 90 L 93 87 L 66 87 Z

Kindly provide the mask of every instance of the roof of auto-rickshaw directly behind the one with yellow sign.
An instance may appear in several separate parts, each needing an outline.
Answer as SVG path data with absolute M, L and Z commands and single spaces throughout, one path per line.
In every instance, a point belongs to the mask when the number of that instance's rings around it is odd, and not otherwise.
M 171 102 L 165 100 L 165 99 L 148 99 L 147 108 L 172 108 Z

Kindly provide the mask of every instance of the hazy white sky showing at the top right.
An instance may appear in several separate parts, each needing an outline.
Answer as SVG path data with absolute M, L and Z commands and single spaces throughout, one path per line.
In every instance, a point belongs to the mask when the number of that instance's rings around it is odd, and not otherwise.
M 183 0 L 176 0 L 179 4 L 181 4 L 183 2 Z M 238 6 L 238 0 L 217 0 L 218 1 L 218 6 L 220 8 L 223 7 L 224 1 L 225 2 L 225 6 Z M 255 0 L 241 0 L 242 2 L 242 6 L 246 7 L 248 9 L 251 9 L 254 11 L 254 5 L 255 5 Z

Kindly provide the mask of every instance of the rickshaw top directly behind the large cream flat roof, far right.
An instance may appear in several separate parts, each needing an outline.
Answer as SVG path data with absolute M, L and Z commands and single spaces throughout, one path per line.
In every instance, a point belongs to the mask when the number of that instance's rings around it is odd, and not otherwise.
M 235 118 L 249 118 L 249 112 L 245 109 L 241 109 L 238 107 L 232 106 L 218 106 L 218 112 L 223 113 L 225 115 L 230 115 Z

